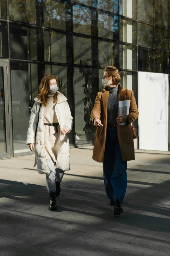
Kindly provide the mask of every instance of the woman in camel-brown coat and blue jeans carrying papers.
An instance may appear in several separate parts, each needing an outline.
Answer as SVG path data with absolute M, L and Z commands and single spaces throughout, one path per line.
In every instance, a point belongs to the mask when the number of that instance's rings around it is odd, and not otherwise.
M 93 124 L 97 127 L 92 158 L 103 162 L 104 183 L 114 214 L 123 212 L 122 202 L 127 187 L 127 161 L 135 160 L 130 123 L 138 117 L 134 92 L 127 90 L 130 109 L 127 116 L 118 116 L 118 102 L 125 101 L 125 89 L 120 85 L 120 73 L 114 66 L 104 70 L 105 89 L 98 92 L 92 109 Z M 124 125 L 121 123 L 126 122 Z M 119 126 L 120 125 L 120 126 Z

